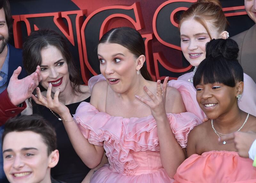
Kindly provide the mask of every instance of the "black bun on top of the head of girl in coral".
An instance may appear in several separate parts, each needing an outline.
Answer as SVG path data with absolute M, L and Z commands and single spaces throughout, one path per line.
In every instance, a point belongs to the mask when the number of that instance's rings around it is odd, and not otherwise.
M 206 44 L 206 57 L 224 57 L 235 60 L 238 56 L 238 45 L 232 39 L 213 39 Z

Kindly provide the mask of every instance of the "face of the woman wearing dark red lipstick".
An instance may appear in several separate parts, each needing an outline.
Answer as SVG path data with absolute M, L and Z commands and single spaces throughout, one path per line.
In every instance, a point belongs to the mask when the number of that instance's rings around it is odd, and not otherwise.
M 66 59 L 55 46 L 48 46 L 42 49 L 41 57 L 41 85 L 47 89 L 49 83 L 52 83 L 52 93 L 55 93 L 58 88 L 60 88 L 60 92 L 63 92 L 70 85 Z

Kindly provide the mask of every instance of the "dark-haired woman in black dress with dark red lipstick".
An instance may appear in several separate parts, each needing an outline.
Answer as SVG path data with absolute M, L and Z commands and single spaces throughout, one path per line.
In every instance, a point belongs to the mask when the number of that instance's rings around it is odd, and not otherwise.
M 71 114 L 75 113 L 81 102 L 90 101 L 89 87 L 81 85 L 82 81 L 67 43 L 57 32 L 32 32 L 23 44 L 23 64 L 28 74 L 32 73 L 37 65 L 40 66 L 42 80 L 39 87 L 41 90 L 47 90 L 51 86 L 52 96 L 58 91 L 60 103 L 65 105 Z M 39 88 L 36 90 L 39 91 Z M 42 95 L 46 96 L 46 91 L 42 91 Z M 52 177 L 68 183 L 81 183 L 90 168 L 77 156 L 63 124 L 58 120 L 59 116 L 42 105 L 33 103 L 32 107 L 33 113 L 47 119 L 57 134 L 60 160 L 51 170 Z

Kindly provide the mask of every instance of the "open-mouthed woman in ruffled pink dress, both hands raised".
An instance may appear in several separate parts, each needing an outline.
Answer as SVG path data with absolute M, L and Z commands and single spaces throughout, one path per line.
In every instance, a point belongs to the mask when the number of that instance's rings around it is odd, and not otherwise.
M 98 44 L 98 58 L 105 80 L 94 84 L 91 104 L 81 103 L 74 119 L 58 101 L 60 90 L 52 99 L 52 86 L 46 98 L 37 91 L 36 103 L 60 115 L 88 167 L 100 163 L 105 149 L 109 164 L 97 170 L 91 182 L 173 182 L 185 159 L 181 147 L 186 147 L 187 134 L 199 119 L 183 113 L 180 93 L 167 87 L 168 77 L 162 86 L 160 80 L 145 79 L 145 45 L 138 31 L 129 27 L 108 31 Z M 166 154 L 168 161 L 162 158 Z

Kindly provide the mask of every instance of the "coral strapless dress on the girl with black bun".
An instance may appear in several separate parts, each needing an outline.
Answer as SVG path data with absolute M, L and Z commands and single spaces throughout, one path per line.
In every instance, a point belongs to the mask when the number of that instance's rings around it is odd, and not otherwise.
M 175 183 L 255 183 L 256 167 L 237 152 L 209 151 L 188 157 L 174 179 Z

